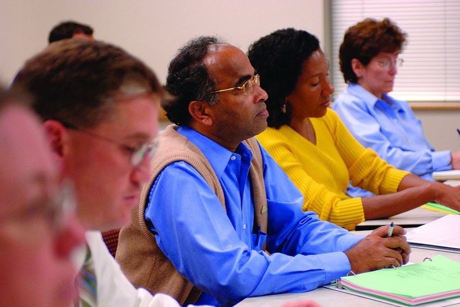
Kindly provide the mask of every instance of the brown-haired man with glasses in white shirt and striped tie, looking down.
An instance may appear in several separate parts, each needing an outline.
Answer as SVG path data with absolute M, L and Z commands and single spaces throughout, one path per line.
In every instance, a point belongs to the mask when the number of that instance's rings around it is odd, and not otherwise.
M 167 295 L 136 290 L 100 232 L 129 220 L 150 178 L 164 95 L 154 73 L 113 45 L 62 40 L 28 60 L 13 87 L 33 97 L 62 178 L 75 186 L 88 245 L 79 259 L 80 305 L 178 307 Z

